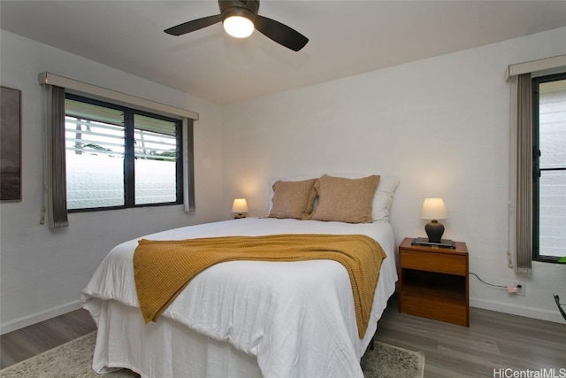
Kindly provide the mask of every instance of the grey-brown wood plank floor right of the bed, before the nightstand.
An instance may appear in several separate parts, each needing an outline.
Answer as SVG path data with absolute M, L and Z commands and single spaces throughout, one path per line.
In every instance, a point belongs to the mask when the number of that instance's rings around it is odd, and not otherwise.
M 472 307 L 470 328 L 466 328 L 397 309 L 396 298 L 390 299 L 379 320 L 376 339 L 423 351 L 425 377 L 519 376 L 494 374 L 494 369 L 550 368 L 555 368 L 554 376 L 566 376 L 566 322 L 533 320 Z

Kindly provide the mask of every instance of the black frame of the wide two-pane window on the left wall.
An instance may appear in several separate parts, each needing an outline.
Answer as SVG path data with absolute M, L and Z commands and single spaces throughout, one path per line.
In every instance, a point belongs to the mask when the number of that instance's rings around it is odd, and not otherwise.
M 65 99 L 80 101 L 86 104 L 95 104 L 99 106 L 108 107 L 124 112 L 124 127 L 125 127 L 125 156 L 124 156 L 124 204 L 118 206 L 103 206 L 103 207 L 89 207 L 82 209 L 68 209 L 67 212 L 100 212 L 106 210 L 119 210 L 130 209 L 138 207 L 156 207 L 156 206 L 169 206 L 174 204 L 183 204 L 183 127 L 182 120 L 166 117 L 162 114 L 153 112 L 146 112 L 132 107 L 112 104 L 99 99 L 91 98 L 88 96 L 80 96 L 73 93 L 65 93 Z M 66 112 L 65 112 L 66 113 Z M 153 204 L 135 204 L 135 171 L 134 171 L 134 115 L 139 114 L 142 116 L 152 117 L 159 120 L 166 120 L 174 122 L 175 138 L 177 140 L 177 161 L 176 161 L 176 193 L 175 201 L 161 202 Z M 190 134 L 190 133 L 189 133 Z M 190 135 L 188 135 L 190 137 Z M 189 142 L 192 145 L 192 142 Z M 190 151 L 189 151 L 190 153 Z

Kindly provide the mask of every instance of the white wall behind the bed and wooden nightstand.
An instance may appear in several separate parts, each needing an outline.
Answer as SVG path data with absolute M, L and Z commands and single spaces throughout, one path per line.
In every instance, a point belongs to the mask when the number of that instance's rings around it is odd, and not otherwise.
M 509 64 L 566 54 L 566 28 L 263 96 L 223 108 L 224 209 L 246 197 L 267 212 L 271 177 L 326 172 L 395 174 L 397 241 L 424 235 L 424 197 L 443 197 L 445 237 L 464 241 L 470 271 L 487 282 L 526 283 L 511 296 L 470 276 L 470 304 L 563 321 L 565 266 L 507 264 Z M 473 322 L 473 319 L 471 320 Z

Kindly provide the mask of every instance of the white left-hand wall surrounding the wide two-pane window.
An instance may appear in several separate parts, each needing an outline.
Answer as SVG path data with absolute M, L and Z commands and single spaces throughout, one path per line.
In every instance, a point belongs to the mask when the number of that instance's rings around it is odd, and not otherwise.
M 1 31 L 0 83 L 21 90 L 22 200 L 0 207 L 1 332 L 79 308 L 83 289 L 111 248 L 167 228 L 219 220 L 222 209 L 221 110 L 195 96 Z M 195 121 L 196 212 L 182 205 L 73 213 L 69 228 L 40 225 L 42 87 L 48 71 L 200 113 Z

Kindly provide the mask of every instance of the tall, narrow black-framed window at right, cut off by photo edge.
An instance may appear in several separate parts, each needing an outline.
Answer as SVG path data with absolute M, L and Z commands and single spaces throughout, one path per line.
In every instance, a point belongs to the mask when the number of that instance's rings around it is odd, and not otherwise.
M 533 259 L 566 255 L 566 73 L 532 79 Z

